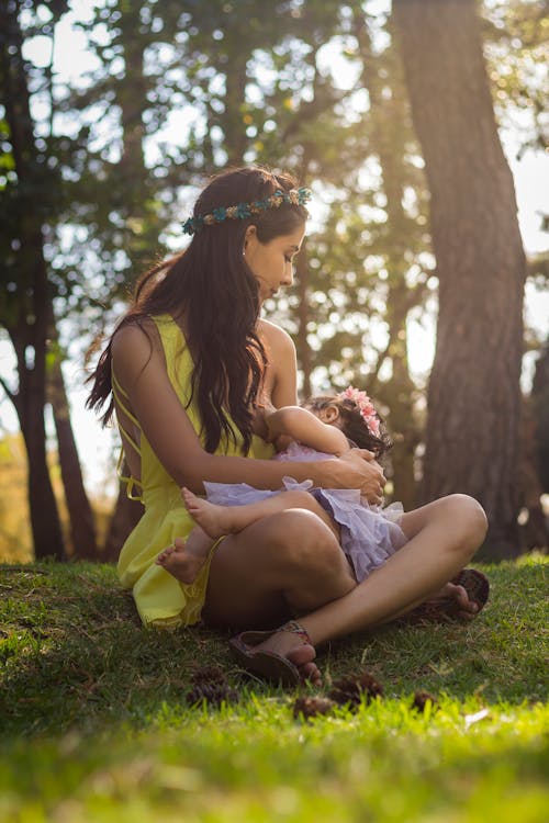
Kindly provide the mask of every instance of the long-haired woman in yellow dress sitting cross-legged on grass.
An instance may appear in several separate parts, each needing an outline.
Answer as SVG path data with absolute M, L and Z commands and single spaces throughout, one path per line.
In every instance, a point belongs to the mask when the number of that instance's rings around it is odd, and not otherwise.
M 203 481 L 280 488 L 283 463 L 254 432 L 259 401 L 295 405 L 295 350 L 259 317 L 262 301 L 291 285 L 307 216 L 309 190 L 251 167 L 214 178 L 199 196 L 189 248 L 138 283 L 133 306 L 103 351 L 88 405 L 111 397 L 145 515 L 124 544 L 119 573 L 145 623 L 277 625 L 245 632 L 233 650 L 250 670 L 294 683 L 321 679 L 315 645 L 410 611 L 440 591 L 463 618 L 482 601 L 448 584 L 481 544 L 480 505 L 457 495 L 403 516 L 408 542 L 360 585 L 333 530 L 313 511 L 266 517 L 213 543 L 192 584 L 155 563 L 192 520 L 180 487 Z M 254 459 L 250 459 L 254 458 Z M 365 450 L 296 462 L 292 476 L 325 488 L 359 488 L 381 501 L 383 473 Z M 474 602 L 477 599 L 477 602 Z

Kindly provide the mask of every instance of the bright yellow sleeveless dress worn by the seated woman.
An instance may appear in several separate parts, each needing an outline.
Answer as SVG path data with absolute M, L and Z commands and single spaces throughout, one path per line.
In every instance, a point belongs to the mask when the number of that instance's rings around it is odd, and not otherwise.
M 168 368 L 169 380 L 183 406 L 190 395 L 192 360 L 179 326 L 169 315 L 154 317 Z M 113 394 L 128 418 L 138 426 L 136 418 L 124 403 L 127 397 L 112 374 Z M 200 418 L 194 402 L 187 408 L 194 430 L 200 436 Z M 127 482 L 127 495 L 141 499 L 145 514 L 124 543 L 119 559 L 119 576 L 125 588 L 133 589 L 137 610 L 146 625 L 191 625 L 200 620 L 205 599 L 210 563 L 220 541 L 210 550 L 206 562 L 192 584 L 177 580 L 155 561 L 157 555 L 173 543 L 189 535 L 193 521 L 183 507 L 180 489 L 166 472 L 145 436 L 139 443 L 120 427 L 122 438 L 141 454 L 141 482 L 123 477 Z M 238 432 L 237 432 L 238 435 Z M 238 446 L 221 443 L 216 454 L 242 455 Z M 249 458 L 268 460 L 273 449 L 258 437 L 254 437 Z M 134 491 L 138 487 L 139 494 Z

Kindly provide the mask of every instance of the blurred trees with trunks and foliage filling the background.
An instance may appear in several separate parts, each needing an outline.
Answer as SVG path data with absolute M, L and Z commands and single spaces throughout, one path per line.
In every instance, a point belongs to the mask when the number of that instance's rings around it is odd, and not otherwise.
M 316 195 L 295 289 L 266 306 L 295 339 L 303 394 L 369 391 L 406 508 L 468 492 L 489 511 L 485 556 L 547 545 L 547 330 L 522 328 L 547 258 L 524 259 L 497 127 L 518 154 L 545 145 L 548 3 L 435 5 L 1 0 L 0 345 L 15 369 L 0 365 L 0 392 L 36 556 L 114 559 L 139 516 L 123 495 L 110 526 L 92 515 L 64 373 L 181 248 L 197 187 L 242 162 Z M 429 384 L 428 353 L 412 360 L 437 317 Z

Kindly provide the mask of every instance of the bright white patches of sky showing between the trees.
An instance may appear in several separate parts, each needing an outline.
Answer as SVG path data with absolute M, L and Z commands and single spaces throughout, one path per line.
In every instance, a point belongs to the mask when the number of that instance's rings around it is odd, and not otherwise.
M 370 0 L 371 10 L 376 4 L 380 10 L 386 8 L 386 0 Z M 75 15 L 86 18 L 91 3 L 89 0 L 76 0 L 72 3 Z M 65 81 L 80 82 L 82 72 L 90 67 L 85 53 L 86 38 L 82 32 L 76 32 L 67 18 L 59 27 L 56 37 L 54 67 Z M 37 65 L 49 61 L 49 41 L 45 37 L 35 38 L 32 54 L 27 56 Z M 338 77 L 345 86 L 345 64 L 337 67 Z M 518 221 L 524 246 L 528 255 L 547 250 L 549 237 L 540 230 L 541 214 L 549 211 L 547 191 L 549 187 L 549 157 L 541 153 L 526 151 L 518 160 L 516 158 L 517 142 L 512 132 L 502 133 L 502 143 L 515 180 L 518 202 Z M 181 246 L 186 241 L 181 238 Z M 549 331 L 549 292 L 535 292 L 528 286 L 525 300 L 525 319 L 542 337 Z M 411 324 L 408 328 L 408 347 L 412 372 L 416 376 L 426 375 L 434 357 L 435 335 L 434 326 L 429 323 L 419 326 Z M 531 379 L 534 357 L 525 360 L 525 385 Z M 13 369 L 11 347 L 0 341 L 0 373 L 9 375 Z M 119 438 L 113 429 L 101 429 L 96 416 L 83 407 L 86 392 L 82 388 L 85 377 L 81 358 L 69 361 L 64 367 L 64 373 L 69 387 L 71 404 L 71 419 L 77 439 L 78 450 L 85 471 L 88 491 L 93 496 L 112 495 L 115 491 L 113 451 Z M 53 422 L 47 421 L 48 430 L 53 431 Z M 4 431 L 18 431 L 18 422 L 9 401 L 0 396 L 0 437 Z

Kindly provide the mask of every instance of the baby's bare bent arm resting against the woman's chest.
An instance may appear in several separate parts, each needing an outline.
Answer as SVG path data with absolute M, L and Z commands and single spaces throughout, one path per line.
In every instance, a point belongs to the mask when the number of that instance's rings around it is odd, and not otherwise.
M 283 406 L 266 415 L 265 420 L 270 441 L 285 435 L 326 454 L 338 456 L 349 451 L 349 443 L 340 429 L 323 422 L 301 406 Z

